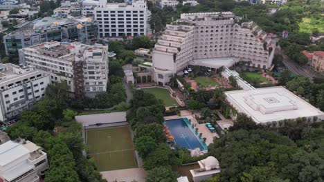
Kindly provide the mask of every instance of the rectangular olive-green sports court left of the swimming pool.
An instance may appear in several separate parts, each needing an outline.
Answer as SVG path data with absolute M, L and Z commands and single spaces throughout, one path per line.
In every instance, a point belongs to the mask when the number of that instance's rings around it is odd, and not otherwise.
M 128 125 L 87 130 L 87 145 L 98 171 L 138 168 Z

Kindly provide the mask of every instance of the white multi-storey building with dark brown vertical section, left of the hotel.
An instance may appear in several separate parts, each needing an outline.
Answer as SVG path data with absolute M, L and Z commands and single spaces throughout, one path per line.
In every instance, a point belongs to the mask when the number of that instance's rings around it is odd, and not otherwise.
M 66 81 L 75 97 L 106 92 L 108 46 L 47 42 L 19 50 L 19 61 L 48 72 L 52 83 Z

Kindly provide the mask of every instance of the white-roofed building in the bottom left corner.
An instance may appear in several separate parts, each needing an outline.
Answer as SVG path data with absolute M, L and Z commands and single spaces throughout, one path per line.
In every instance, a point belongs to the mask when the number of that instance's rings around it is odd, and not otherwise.
M 47 154 L 30 141 L 0 143 L 0 181 L 38 182 L 48 169 Z

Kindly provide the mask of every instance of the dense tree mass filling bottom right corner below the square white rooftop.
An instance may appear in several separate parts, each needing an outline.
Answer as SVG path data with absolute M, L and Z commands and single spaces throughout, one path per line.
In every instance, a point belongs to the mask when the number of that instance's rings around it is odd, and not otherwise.
M 293 141 L 283 130 L 241 120 L 209 146 L 208 153 L 219 159 L 222 169 L 219 178 L 210 181 L 323 181 L 323 123 L 311 127 L 303 119 L 291 121 L 301 126 L 295 131 L 300 138 Z M 294 126 L 284 130 L 289 128 Z

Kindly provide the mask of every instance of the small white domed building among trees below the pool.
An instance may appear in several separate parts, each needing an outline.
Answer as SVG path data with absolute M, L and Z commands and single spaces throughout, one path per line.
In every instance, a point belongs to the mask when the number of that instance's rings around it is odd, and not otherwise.
M 208 156 L 206 159 L 198 161 L 198 164 L 199 169 L 190 170 L 194 182 L 211 179 L 221 171 L 219 161 L 214 156 Z

